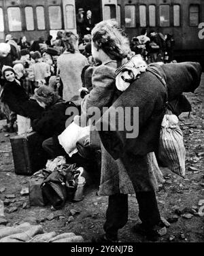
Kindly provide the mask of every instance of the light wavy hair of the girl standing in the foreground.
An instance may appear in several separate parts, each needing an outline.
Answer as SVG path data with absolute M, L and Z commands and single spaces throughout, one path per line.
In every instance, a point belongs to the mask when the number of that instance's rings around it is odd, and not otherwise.
M 129 54 L 129 39 L 124 36 L 118 23 L 113 20 L 99 22 L 92 29 L 92 42 L 99 49 L 101 48 L 111 59 L 120 61 Z

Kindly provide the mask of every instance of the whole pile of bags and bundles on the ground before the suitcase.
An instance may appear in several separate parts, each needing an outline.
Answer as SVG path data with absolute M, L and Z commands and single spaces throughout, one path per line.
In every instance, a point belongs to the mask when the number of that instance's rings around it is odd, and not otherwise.
M 54 170 L 42 169 L 35 172 L 29 180 L 31 206 L 45 206 L 50 203 L 58 210 L 65 206 L 67 199 L 74 201 L 77 197 L 75 201 L 82 200 L 85 184 L 82 173 L 82 167 L 76 168 L 75 164 L 67 163 L 56 165 Z M 80 182 L 82 178 L 83 184 Z

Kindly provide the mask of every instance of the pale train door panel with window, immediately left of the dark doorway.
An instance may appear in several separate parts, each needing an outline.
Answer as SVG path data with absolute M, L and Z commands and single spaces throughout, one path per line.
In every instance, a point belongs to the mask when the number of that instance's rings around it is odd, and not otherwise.
M 75 0 L 63 0 L 63 19 L 65 31 L 76 33 Z

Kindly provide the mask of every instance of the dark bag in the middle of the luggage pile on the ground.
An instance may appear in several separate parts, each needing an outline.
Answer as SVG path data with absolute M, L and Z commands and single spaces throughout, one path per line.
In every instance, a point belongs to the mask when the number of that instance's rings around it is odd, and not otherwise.
M 42 183 L 41 190 L 56 210 L 63 208 L 68 198 L 72 199 L 79 175 L 80 170 L 75 168 L 75 164 L 65 163 L 56 167 Z

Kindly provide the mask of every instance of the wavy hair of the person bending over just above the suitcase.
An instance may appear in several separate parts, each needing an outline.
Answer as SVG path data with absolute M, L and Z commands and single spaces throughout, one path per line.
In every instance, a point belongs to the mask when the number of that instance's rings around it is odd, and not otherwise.
M 41 103 L 45 103 L 46 106 L 50 106 L 58 100 L 58 96 L 48 86 L 42 85 L 38 89 L 35 89 L 35 99 Z

